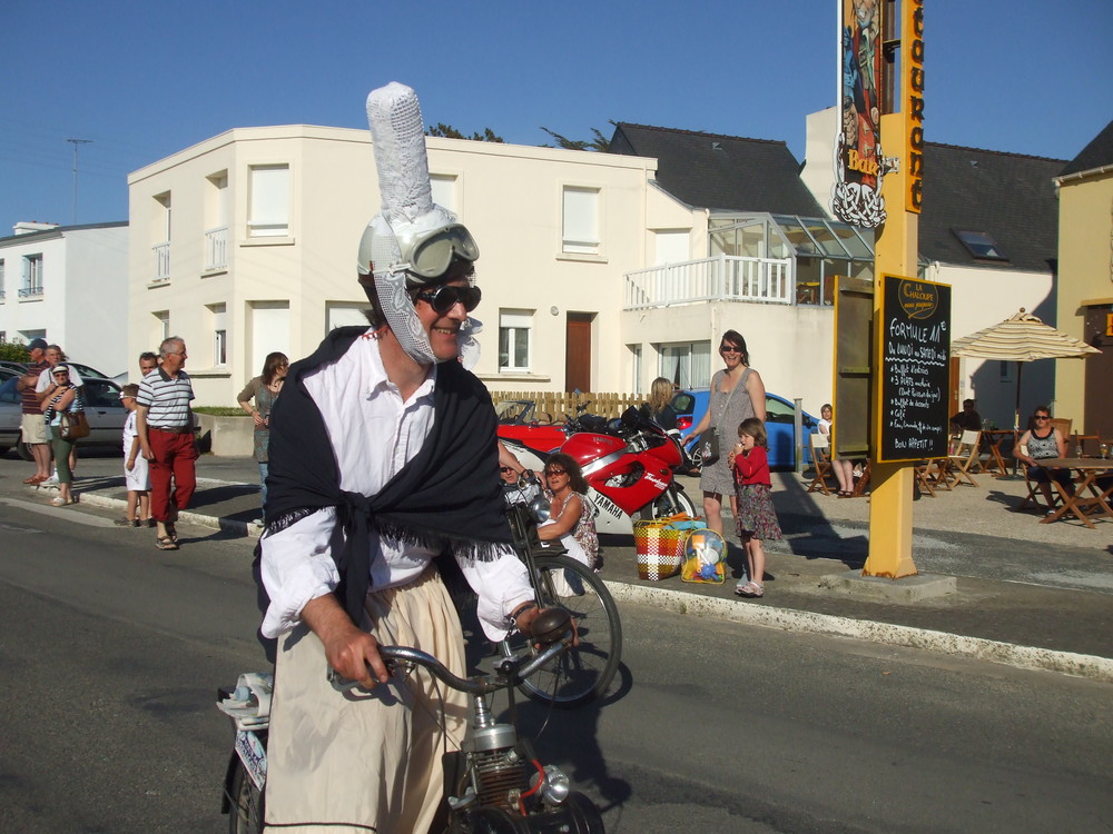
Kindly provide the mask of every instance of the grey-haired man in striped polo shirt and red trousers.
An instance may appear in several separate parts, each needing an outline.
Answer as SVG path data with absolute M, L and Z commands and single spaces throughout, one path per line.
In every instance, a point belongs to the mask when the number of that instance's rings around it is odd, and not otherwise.
M 150 515 L 158 526 L 155 546 L 178 549 L 174 523 L 178 510 L 189 506 L 197 487 L 194 461 L 194 414 L 189 401 L 194 388 L 186 364 L 186 342 L 177 336 L 165 339 L 158 353 L 161 364 L 142 378 L 136 397 L 136 431 L 139 448 L 150 461 Z M 170 489 L 170 480 L 174 489 Z

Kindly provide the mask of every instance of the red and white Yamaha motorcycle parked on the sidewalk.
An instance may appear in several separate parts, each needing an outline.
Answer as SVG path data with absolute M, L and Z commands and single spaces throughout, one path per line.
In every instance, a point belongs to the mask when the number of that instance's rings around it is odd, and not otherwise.
M 644 419 L 637 408 L 628 408 L 611 421 L 583 414 L 585 408 L 587 404 L 564 424 L 563 443 L 554 448 L 539 448 L 556 439 L 551 427 L 531 435 L 520 427 L 500 425 L 499 437 L 523 466 L 539 471 L 554 451 L 570 455 L 588 481 L 588 498 L 598 510 L 595 527 L 600 533 L 632 534 L 634 517 L 661 518 L 678 513 L 696 517 L 696 505 L 673 478 L 674 470 L 684 465 L 673 437 Z

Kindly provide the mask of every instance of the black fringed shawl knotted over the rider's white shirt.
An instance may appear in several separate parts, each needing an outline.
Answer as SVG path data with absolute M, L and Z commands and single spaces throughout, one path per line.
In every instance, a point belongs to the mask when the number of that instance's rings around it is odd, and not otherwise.
M 492 559 L 510 544 L 503 515 L 491 395 L 456 361 L 437 366 L 433 428 L 416 457 L 377 495 L 343 492 L 324 419 L 304 385 L 309 371 L 339 359 L 365 327 L 333 330 L 313 356 L 290 366 L 270 413 L 267 530 L 322 507 L 336 507 L 346 543 L 333 559 L 336 596 L 356 623 L 371 586 L 370 530 L 402 542 L 447 546 Z M 343 461 L 341 461 L 343 465 Z

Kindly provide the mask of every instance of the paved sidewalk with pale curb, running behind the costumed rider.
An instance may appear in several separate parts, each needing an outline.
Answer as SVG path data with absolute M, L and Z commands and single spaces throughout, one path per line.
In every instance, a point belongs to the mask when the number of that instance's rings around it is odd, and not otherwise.
M 10 455 L 0 459 L 0 489 L 24 499 L 33 495 L 33 487 L 20 483 L 29 470 Z M 255 461 L 203 456 L 197 474 L 197 494 L 179 524 L 257 537 L 259 528 L 252 524 L 260 515 Z M 913 604 L 870 602 L 833 590 L 827 578 L 860 570 L 868 547 L 868 499 L 808 494 L 807 481 L 791 473 L 774 478 L 786 538 L 767 545 L 764 598 L 736 597 L 732 578 L 723 585 L 686 584 L 679 576 L 640 580 L 632 539 L 603 537 L 602 578 L 615 598 L 1113 682 L 1113 523 L 1099 523 L 1096 529 L 1040 524 L 1036 515 L 1009 512 L 1025 494 L 1023 478 L 976 476 L 977 487 L 914 504 L 917 569 L 956 576 L 957 592 Z M 700 495 L 695 479 L 681 483 Z M 126 498 L 119 459 L 82 458 L 75 492 L 85 510 L 119 513 Z M 728 518 L 728 534 L 732 526 Z M 736 544 L 730 574 L 737 576 L 743 562 Z

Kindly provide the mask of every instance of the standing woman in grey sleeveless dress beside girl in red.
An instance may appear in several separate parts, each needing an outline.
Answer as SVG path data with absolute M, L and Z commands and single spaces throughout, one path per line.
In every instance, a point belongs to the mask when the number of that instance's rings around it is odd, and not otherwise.
M 711 397 L 707 413 L 700 418 L 695 433 L 709 426 L 719 434 L 719 459 L 705 466 L 699 486 L 703 490 L 703 515 L 707 526 L 722 535 L 722 496 L 730 497 L 735 512 L 735 477 L 727 465 L 727 451 L 738 436 L 738 426 L 747 417 L 765 423 L 765 384 L 761 375 L 750 367 L 746 339 L 737 330 L 727 330 L 719 341 L 719 356 L 726 366 L 711 377 Z

